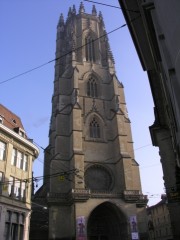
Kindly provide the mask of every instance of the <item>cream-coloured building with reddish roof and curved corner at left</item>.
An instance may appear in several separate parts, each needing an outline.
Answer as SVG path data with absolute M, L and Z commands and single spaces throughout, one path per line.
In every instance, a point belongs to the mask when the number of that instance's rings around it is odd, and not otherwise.
M 2 240 L 28 240 L 32 164 L 38 148 L 21 119 L 0 104 L 0 233 Z

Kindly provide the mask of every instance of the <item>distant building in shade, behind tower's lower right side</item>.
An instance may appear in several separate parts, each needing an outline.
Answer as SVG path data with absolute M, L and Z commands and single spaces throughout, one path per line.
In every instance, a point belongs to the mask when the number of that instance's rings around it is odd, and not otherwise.
M 173 240 L 167 203 L 167 196 L 162 194 L 160 202 L 147 208 L 149 240 Z

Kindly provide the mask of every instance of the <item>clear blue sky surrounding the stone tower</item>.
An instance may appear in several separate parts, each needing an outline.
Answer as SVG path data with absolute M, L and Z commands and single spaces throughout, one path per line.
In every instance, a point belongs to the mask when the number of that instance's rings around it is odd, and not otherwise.
M 0 0 L 0 103 L 21 118 L 28 137 L 39 146 L 40 155 L 33 165 L 34 177 L 43 175 L 43 149 L 49 141 L 54 61 L 48 62 L 55 59 L 57 23 L 61 13 L 66 20 L 73 4 L 78 11 L 80 2 Z M 117 0 L 96 2 L 120 7 Z M 91 13 L 93 3 L 83 1 L 83 4 L 85 11 Z M 126 23 L 120 8 L 94 5 L 98 13 L 102 12 L 107 32 Z M 154 103 L 147 74 L 127 26 L 108 38 L 117 77 L 124 85 L 142 191 L 148 195 L 151 206 L 161 200 L 164 184 L 159 149 L 152 146 L 149 133 L 149 126 L 154 123 Z

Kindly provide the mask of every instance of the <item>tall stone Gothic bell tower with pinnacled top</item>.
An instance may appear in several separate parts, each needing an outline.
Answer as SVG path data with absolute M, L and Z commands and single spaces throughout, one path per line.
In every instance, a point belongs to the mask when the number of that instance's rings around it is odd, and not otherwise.
M 94 6 L 60 16 L 47 152 L 49 239 L 143 239 L 147 199 L 124 88 Z

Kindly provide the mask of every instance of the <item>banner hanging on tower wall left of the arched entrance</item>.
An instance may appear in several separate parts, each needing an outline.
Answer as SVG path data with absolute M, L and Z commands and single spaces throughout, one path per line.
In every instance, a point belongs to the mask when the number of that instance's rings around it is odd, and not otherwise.
M 76 219 L 77 240 L 86 240 L 86 219 L 84 216 Z

